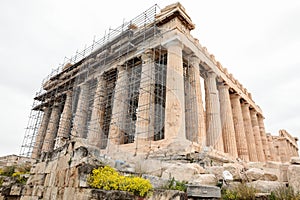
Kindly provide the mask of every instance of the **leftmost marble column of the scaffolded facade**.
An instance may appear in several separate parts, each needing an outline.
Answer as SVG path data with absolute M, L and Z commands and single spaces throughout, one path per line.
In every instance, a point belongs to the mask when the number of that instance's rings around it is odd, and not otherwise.
M 43 141 L 50 120 L 50 115 L 51 115 L 51 109 L 49 107 L 45 107 L 42 122 L 40 124 L 37 136 L 35 138 L 35 143 L 31 154 L 32 159 L 38 159 L 40 157 Z

